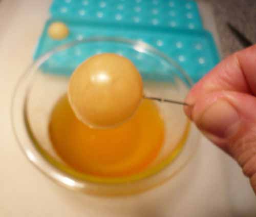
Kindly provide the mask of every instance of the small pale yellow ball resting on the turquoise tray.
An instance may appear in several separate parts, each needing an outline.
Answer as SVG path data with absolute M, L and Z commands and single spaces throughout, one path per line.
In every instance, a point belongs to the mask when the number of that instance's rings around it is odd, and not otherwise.
M 54 22 L 49 26 L 48 34 L 53 39 L 61 40 L 69 35 L 69 29 L 61 22 Z

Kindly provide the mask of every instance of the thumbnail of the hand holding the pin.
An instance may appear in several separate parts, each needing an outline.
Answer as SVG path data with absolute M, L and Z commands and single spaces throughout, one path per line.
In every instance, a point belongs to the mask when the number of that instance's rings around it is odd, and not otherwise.
M 198 118 L 198 127 L 219 138 L 230 138 L 238 132 L 240 118 L 237 110 L 226 100 L 211 104 Z

